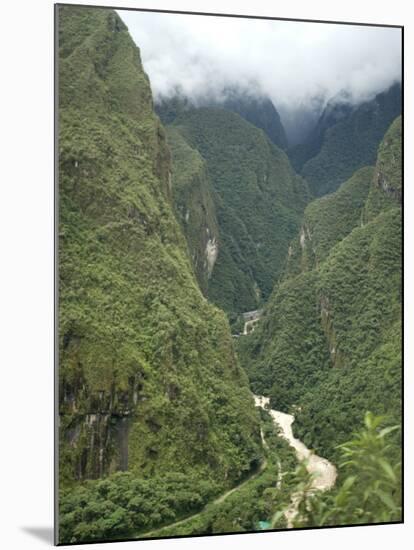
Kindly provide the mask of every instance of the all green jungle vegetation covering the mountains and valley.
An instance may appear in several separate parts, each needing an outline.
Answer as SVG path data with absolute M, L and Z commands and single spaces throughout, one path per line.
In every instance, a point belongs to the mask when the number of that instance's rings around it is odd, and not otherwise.
M 399 521 L 400 87 L 331 105 L 299 174 L 270 100 L 163 124 L 117 13 L 58 13 L 58 542 L 284 529 L 298 493 L 297 527 Z

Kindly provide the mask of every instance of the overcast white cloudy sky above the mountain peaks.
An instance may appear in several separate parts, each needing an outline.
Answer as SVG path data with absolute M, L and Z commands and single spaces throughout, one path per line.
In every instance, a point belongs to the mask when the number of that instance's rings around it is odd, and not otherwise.
M 156 98 L 177 86 L 197 98 L 256 85 L 277 107 L 290 109 L 340 90 L 359 102 L 401 79 L 400 29 L 118 13 L 141 50 Z

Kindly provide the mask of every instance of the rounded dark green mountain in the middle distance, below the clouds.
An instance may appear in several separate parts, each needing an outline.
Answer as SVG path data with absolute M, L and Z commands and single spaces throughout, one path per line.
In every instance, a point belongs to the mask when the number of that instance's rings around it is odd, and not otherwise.
M 173 141 L 177 132 L 205 160 L 212 184 L 219 236 L 212 229 L 207 233 L 217 256 L 208 273 L 207 295 L 229 314 L 255 309 L 281 273 L 308 200 L 306 183 L 283 151 L 235 113 L 188 110 L 169 129 Z M 180 168 L 174 144 L 172 149 L 175 177 L 181 178 L 181 168 L 190 171 L 190 160 Z M 190 207 L 191 220 L 197 211 Z M 213 210 L 206 216 L 212 218 Z

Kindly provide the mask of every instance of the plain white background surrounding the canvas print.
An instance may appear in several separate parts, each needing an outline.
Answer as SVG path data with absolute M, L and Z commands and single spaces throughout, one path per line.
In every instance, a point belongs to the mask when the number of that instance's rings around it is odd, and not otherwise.
M 85 0 L 85 4 L 93 2 Z M 408 548 L 414 539 L 412 253 L 414 20 L 407 0 L 100 0 L 100 5 L 405 25 L 405 525 L 112 544 L 115 548 Z M 156 37 L 154 37 L 156 40 Z M 51 545 L 53 522 L 53 2 L 1 6 L 0 546 Z M 411 308 L 410 308 L 411 306 Z M 411 310 L 411 311 L 410 311 Z M 411 338 L 412 340 L 412 338 Z M 410 391 L 411 390 L 411 391 Z M 408 428 L 408 429 L 407 429 Z M 85 545 L 97 549 L 100 545 Z

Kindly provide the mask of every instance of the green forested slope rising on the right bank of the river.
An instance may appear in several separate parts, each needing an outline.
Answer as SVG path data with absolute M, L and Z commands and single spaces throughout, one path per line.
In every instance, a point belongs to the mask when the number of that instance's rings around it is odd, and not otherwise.
M 253 390 L 270 395 L 276 409 L 299 407 L 296 433 L 327 457 L 367 410 L 399 421 L 400 132 L 399 118 L 374 171 L 358 171 L 308 205 L 291 271 L 261 324 L 240 339 Z

